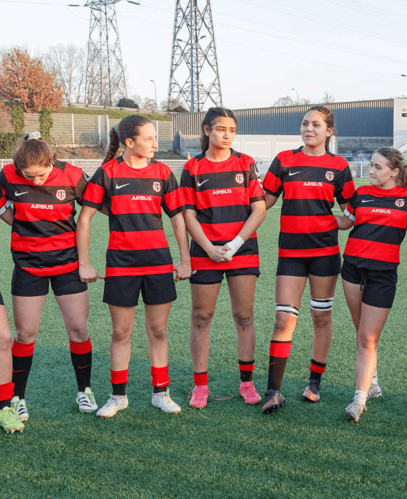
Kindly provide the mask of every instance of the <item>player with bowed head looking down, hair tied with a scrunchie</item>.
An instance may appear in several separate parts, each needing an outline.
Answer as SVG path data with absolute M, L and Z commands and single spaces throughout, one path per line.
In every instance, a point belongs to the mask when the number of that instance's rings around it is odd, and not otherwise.
M 87 178 L 80 168 L 53 159 L 39 132 L 26 135 L 13 163 L 0 172 L 0 210 L 13 203 L 11 295 L 15 336 L 11 346 L 13 398 L 20 421 L 28 419 L 25 388 L 49 283 L 62 313 L 76 375 L 80 412 L 97 405 L 90 388 L 92 345 L 87 328 L 87 285 L 78 274 L 75 201 Z M 54 396 L 52 400 L 56 400 Z

